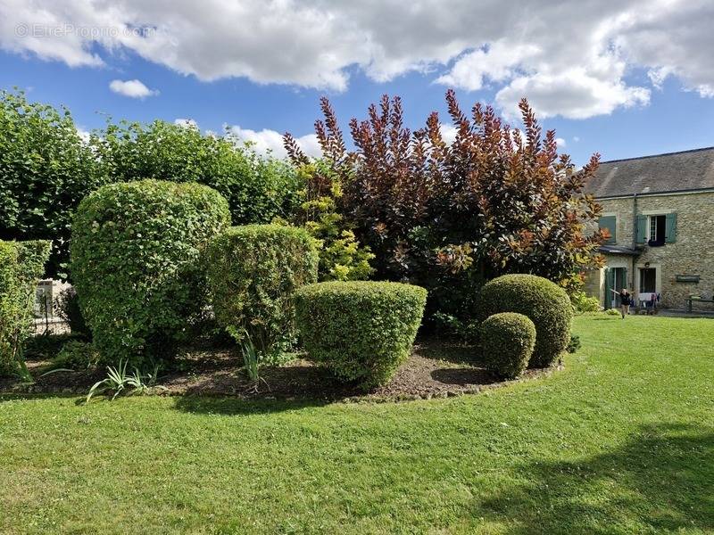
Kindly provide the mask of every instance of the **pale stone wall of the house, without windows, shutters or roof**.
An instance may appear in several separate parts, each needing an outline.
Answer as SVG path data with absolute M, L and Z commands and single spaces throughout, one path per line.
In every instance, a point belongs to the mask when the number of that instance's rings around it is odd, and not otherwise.
M 617 216 L 616 244 L 631 247 L 635 217 L 634 200 L 599 200 L 603 215 Z M 628 278 L 635 292 L 639 291 L 639 268 L 649 263 L 657 268 L 657 289 L 661 293 L 661 306 L 684 309 L 690 294 L 706 299 L 714 292 L 714 193 L 685 193 L 672 195 L 643 195 L 637 197 L 637 214 L 662 215 L 677 213 L 677 241 L 661 247 L 644 246 L 644 251 L 634 259 L 634 270 L 628 268 Z M 609 257 L 610 267 L 622 266 Z M 610 264 L 610 262 L 612 262 Z M 633 271 L 633 273 L 630 273 Z M 699 283 L 678 283 L 677 275 L 700 276 Z M 714 309 L 707 303 L 696 303 L 694 309 Z

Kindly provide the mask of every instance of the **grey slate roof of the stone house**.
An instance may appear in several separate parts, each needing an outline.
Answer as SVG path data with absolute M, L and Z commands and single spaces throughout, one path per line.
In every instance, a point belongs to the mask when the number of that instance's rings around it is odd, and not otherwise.
M 585 185 L 595 197 L 714 189 L 714 147 L 602 161 Z

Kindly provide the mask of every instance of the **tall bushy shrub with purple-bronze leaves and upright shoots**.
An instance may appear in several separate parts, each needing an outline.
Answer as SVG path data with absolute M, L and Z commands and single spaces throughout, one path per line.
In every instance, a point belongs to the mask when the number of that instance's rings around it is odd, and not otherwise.
M 579 273 L 602 261 L 602 234 L 585 232 L 600 207 L 582 194 L 599 155 L 581 169 L 559 155 L 554 131 L 542 136 L 525 100 L 522 133 L 479 103 L 469 117 L 452 91 L 446 101 L 452 144 L 436 112 L 412 133 L 401 100 L 385 95 L 367 120 L 350 121 L 354 152 L 321 101 L 325 120 L 315 129 L 345 191 L 338 212 L 376 254 L 378 277 L 427 287 L 430 311 L 463 325 L 473 320 L 477 288 L 495 276 L 534 273 L 576 288 Z M 295 163 L 306 161 L 291 136 L 285 144 Z

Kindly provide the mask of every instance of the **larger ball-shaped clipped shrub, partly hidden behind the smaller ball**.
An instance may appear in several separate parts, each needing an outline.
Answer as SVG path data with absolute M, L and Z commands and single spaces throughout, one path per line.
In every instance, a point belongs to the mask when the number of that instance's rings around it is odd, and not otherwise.
M 478 293 L 477 318 L 518 312 L 535 324 L 535 349 L 528 366 L 551 366 L 568 347 L 572 308 L 557 284 L 535 275 L 504 275 L 484 284 Z

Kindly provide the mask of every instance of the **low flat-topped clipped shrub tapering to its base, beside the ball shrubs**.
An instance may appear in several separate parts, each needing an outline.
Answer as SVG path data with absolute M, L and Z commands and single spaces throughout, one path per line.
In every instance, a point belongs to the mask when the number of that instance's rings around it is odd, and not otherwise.
M 329 282 L 297 292 L 297 325 L 308 358 L 369 390 L 408 357 L 427 291 L 399 283 Z

